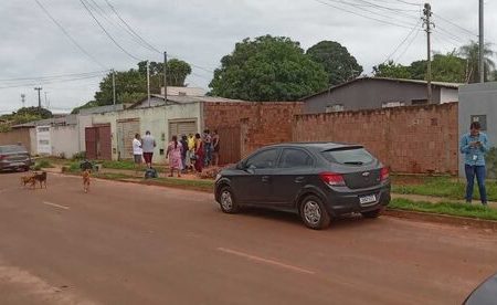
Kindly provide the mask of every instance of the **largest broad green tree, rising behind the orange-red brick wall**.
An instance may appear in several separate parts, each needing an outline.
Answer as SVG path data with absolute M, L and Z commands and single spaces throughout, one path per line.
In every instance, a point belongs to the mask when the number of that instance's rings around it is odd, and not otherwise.
M 211 94 L 245 101 L 296 101 L 326 88 L 325 69 L 304 54 L 298 42 L 260 36 L 236 43 L 222 57 Z

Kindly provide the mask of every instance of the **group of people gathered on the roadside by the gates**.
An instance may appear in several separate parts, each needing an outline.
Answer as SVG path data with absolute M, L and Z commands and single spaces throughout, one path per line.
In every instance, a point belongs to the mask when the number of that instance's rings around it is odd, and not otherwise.
M 139 165 L 145 159 L 147 167 L 151 168 L 156 146 L 157 143 L 150 132 L 147 130 L 142 138 L 136 134 L 133 140 L 135 164 Z M 205 129 L 202 135 L 182 135 L 181 138 L 172 136 L 166 152 L 166 157 L 169 159 L 169 177 L 172 177 L 175 171 L 178 177 L 181 177 L 182 172 L 186 173 L 189 170 L 202 172 L 204 167 L 219 166 L 219 151 L 218 130 L 211 134 L 209 129 Z

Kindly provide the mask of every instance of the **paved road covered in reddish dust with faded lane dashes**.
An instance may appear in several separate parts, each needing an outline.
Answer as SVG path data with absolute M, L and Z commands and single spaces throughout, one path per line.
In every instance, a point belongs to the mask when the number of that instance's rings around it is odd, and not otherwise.
M 228 215 L 212 196 L 0 175 L 0 304 L 459 304 L 497 272 L 491 232 L 290 214 Z

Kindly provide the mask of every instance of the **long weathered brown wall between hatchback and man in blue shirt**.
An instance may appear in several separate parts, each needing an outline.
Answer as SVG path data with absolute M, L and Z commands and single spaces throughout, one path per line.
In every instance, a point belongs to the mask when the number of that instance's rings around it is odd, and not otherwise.
M 293 139 L 362 144 L 395 172 L 456 175 L 457 129 L 457 103 L 448 103 L 298 115 Z

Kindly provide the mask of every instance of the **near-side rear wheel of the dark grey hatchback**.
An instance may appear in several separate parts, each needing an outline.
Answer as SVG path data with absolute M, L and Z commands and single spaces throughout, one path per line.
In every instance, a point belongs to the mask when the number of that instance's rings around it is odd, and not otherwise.
M 302 200 L 299 213 L 304 224 L 314 230 L 328 228 L 331 221 L 322 200 L 316 196 L 307 196 Z

